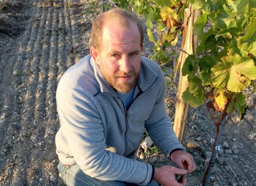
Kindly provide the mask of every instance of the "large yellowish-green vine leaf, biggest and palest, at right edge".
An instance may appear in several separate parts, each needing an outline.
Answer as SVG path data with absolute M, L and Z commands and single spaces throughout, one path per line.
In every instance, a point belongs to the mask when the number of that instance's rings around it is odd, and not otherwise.
M 211 80 L 216 87 L 225 87 L 232 92 L 242 92 L 245 86 L 256 79 L 256 67 L 250 58 L 228 56 L 211 69 Z

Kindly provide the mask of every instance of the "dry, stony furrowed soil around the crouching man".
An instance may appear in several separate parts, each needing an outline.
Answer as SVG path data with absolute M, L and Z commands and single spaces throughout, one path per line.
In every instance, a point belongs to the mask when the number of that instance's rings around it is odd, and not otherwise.
M 58 176 L 55 93 L 62 74 L 90 50 L 91 21 L 100 1 L 0 1 L 0 185 L 64 185 Z M 145 40 L 145 56 L 152 43 Z M 255 93 L 241 122 L 225 125 L 209 185 L 256 185 Z M 174 113 L 175 89 L 166 91 Z M 172 118 L 173 119 L 173 118 Z M 187 185 L 200 185 L 215 137 L 205 107 L 190 108 L 183 145 L 195 159 Z M 153 147 L 139 150 L 155 166 L 171 165 Z

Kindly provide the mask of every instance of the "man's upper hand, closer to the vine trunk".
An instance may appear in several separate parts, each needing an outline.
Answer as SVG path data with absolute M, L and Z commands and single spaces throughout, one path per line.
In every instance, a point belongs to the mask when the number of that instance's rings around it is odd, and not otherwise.
M 177 150 L 172 152 L 170 158 L 171 161 L 174 162 L 178 168 L 186 169 L 188 173 L 193 172 L 196 168 L 193 156 L 183 150 Z

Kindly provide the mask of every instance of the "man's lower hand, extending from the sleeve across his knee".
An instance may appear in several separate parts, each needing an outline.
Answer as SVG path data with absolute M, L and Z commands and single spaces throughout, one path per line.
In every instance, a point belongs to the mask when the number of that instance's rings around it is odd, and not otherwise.
M 154 180 L 163 186 L 182 186 L 186 184 L 185 177 L 179 183 L 175 179 L 175 174 L 186 174 L 186 170 L 179 169 L 173 166 L 163 166 L 160 168 L 155 167 Z

